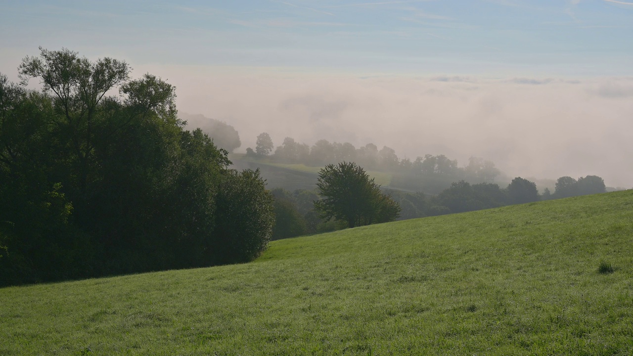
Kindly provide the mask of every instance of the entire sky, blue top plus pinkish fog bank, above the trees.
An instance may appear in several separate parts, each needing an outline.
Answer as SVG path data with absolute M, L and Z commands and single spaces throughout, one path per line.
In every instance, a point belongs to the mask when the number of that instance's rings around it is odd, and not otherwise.
M 175 85 L 179 111 L 233 125 L 239 151 L 268 132 L 633 186 L 630 1 L 0 6 L 10 80 L 38 46 L 125 60 Z

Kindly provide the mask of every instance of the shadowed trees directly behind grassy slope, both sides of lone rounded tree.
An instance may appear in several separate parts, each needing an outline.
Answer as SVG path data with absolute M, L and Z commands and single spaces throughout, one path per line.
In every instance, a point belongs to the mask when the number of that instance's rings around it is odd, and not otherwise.
M 392 219 L 405 220 L 420 217 L 470 212 L 498 208 L 512 204 L 567 198 L 568 196 L 605 193 L 605 182 L 597 175 L 587 175 L 579 179 L 560 177 L 556 181 L 554 193 L 544 189 L 539 194 L 536 183 L 516 177 L 508 186 L 501 188 L 496 183 L 470 184 L 466 181 L 453 182 L 449 188 L 432 196 L 423 193 L 408 193 L 394 189 L 383 189 L 398 207 L 398 216 Z M 319 191 L 299 189 L 289 193 L 275 189 L 275 213 L 277 224 L 273 229 L 273 239 L 290 238 L 305 234 L 315 234 L 349 227 L 345 220 L 323 220 L 315 210 L 311 200 L 318 201 Z M 283 207 L 283 208 L 280 208 Z

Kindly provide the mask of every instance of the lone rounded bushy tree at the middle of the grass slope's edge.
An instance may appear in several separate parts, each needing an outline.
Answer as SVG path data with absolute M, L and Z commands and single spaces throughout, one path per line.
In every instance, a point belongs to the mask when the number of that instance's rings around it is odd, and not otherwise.
M 326 220 L 344 220 L 356 227 L 393 221 L 400 214 L 398 203 L 382 194 L 373 178 L 353 162 L 323 167 L 316 188 L 322 200 L 315 202 L 315 210 Z

